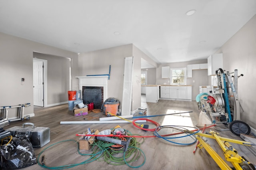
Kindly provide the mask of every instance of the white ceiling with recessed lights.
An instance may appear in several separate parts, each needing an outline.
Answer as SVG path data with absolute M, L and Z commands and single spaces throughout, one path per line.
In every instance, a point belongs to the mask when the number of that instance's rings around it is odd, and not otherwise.
M 133 43 L 172 63 L 206 59 L 255 14 L 256 0 L 0 0 L 0 32 L 76 53 Z

